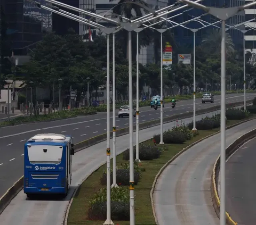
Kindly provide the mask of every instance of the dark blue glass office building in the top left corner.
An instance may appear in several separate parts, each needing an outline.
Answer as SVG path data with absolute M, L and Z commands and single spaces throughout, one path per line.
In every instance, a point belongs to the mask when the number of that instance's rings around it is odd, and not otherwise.
M 14 55 L 27 55 L 33 45 L 52 31 L 52 13 L 23 0 L 2 0 L 9 23 Z M 44 0 L 37 0 L 46 4 Z

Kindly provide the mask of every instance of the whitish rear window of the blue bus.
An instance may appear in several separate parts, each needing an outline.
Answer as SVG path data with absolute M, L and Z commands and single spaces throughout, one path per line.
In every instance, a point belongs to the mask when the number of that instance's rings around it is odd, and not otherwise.
M 60 163 L 62 146 L 30 145 L 28 146 L 28 160 L 30 163 Z

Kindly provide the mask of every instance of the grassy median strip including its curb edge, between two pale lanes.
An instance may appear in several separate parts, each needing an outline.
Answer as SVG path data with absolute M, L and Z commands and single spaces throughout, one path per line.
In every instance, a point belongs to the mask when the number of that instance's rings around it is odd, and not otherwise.
M 237 126 L 243 122 L 247 122 L 252 119 L 255 119 L 255 114 L 251 116 L 253 116 L 253 118 L 245 119 L 239 122 L 237 122 L 237 120 L 227 121 L 227 125 L 228 125 L 227 129 Z M 155 185 L 158 177 L 161 176 L 161 173 L 164 171 L 166 166 L 169 165 L 180 154 L 187 151 L 187 149 L 191 148 L 193 145 L 196 145 L 197 143 L 199 143 L 199 141 L 202 141 L 205 138 L 208 138 L 215 134 L 218 134 L 218 132 L 219 132 L 219 129 L 218 130 L 217 129 L 202 130 L 202 131 L 199 130 L 198 136 L 195 136 L 193 140 L 186 141 L 186 143 L 184 144 L 169 144 L 169 145 L 165 144 L 164 146 L 167 146 L 167 149 L 165 149 L 163 155 L 161 155 L 158 159 L 154 159 L 153 161 L 141 160 L 142 161 L 141 168 L 143 168 L 143 170 L 145 169 L 145 172 L 142 172 L 141 180 L 139 180 L 138 184 L 135 185 L 135 191 L 136 191 L 135 195 L 137 196 L 136 203 L 135 203 L 136 224 L 138 225 L 158 224 L 156 215 L 155 215 L 154 201 L 153 201 L 154 189 L 155 189 Z M 150 144 L 150 143 L 153 143 L 152 139 L 143 142 L 143 144 Z M 171 160 L 168 161 L 169 159 Z M 125 163 L 129 163 L 129 161 L 124 160 L 124 153 L 121 153 L 117 156 L 116 162 L 117 162 L 117 166 L 123 166 Z M 75 194 L 73 195 L 70 201 L 70 204 L 68 206 L 69 213 L 68 211 L 66 212 L 66 218 L 64 223 L 65 225 L 66 224 L 96 225 L 101 223 L 101 220 L 92 221 L 89 218 L 90 217 L 89 209 L 91 209 L 89 202 L 93 201 L 94 199 L 93 195 L 97 190 L 100 190 L 101 188 L 105 187 L 99 182 L 100 180 L 102 180 L 102 173 L 103 171 L 105 171 L 105 169 L 106 169 L 106 163 L 104 163 L 97 170 L 89 174 L 84 179 L 82 184 L 79 187 L 77 187 Z M 149 186 L 151 187 L 151 189 L 148 188 Z M 99 196 L 99 198 L 101 197 L 102 196 Z M 103 222 L 104 221 L 102 220 L 102 223 Z M 115 221 L 113 220 L 113 222 L 115 224 L 122 224 L 122 225 L 129 224 L 129 221 L 124 221 L 124 220 L 115 220 Z

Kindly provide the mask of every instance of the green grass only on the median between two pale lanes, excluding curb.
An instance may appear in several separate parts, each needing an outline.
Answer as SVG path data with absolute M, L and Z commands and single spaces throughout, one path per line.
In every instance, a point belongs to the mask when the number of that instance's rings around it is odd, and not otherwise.
M 250 118 L 256 118 L 256 114 L 250 114 L 246 118 L 241 120 L 227 120 L 226 126 L 231 126 L 241 121 L 248 120 Z M 209 124 L 208 124 L 209 125 Z M 151 208 L 151 199 L 150 199 L 150 190 L 153 185 L 154 179 L 158 171 L 162 166 L 172 159 L 172 157 L 182 151 L 183 148 L 186 148 L 190 144 L 193 144 L 195 141 L 202 139 L 208 135 L 218 132 L 219 128 L 211 130 L 199 130 L 198 135 L 194 136 L 192 139 L 185 141 L 183 144 L 165 144 L 164 151 L 162 154 L 154 160 L 143 160 L 143 168 L 141 179 L 138 184 L 135 185 L 135 223 L 137 225 L 155 225 L 155 219 L 153 216 L 153 211 Z M 154 145 L 153 139 L 145 141 L 146 145 Z M 162 147 L 162 145 L 161 145 Z M 117 166 L 129 163 L 129 161 L 124 160 L 123 154 L 120 154 L 116 157 Z M 111 162 L 111 165 L 112 162 Z M 95 193 L 98 190 L 105 187 L 100 184 L 100 179 L 103 172 L 106 170 L 106 164 L 102 165 L 98 170 L 94 171 L 90 177 L 88 177 L 83 184 L 77 190 L 76 195 L 74 196 L 73 203 L 71 204 L 69 215 L 68 215 L 68 225 L 98 225 L 103 224 L 103 220 L 89 220 L 88 211 L 90 208 L 90 201 L 94 198 Z M 129 221 L 118 221 L 113 220 L 115 224 L 118 225 L 129 225 Z

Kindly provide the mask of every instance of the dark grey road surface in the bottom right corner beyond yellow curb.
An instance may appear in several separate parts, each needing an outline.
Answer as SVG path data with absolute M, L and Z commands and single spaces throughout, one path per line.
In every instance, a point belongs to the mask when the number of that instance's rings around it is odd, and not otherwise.
M 256 139 L 250 140 L 226 163 L 226 211 L 238 224 L 253 225 L 256 221 L 255 146 Z

